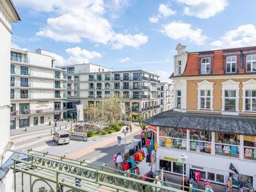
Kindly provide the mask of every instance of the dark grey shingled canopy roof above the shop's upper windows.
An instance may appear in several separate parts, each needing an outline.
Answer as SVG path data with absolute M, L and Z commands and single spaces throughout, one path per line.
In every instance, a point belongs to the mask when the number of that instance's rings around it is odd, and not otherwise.
M 226 132 L 256 136 L 256 117 L 180 113 L 173 110 L 159 113 L 145 123 L 149 125 Z

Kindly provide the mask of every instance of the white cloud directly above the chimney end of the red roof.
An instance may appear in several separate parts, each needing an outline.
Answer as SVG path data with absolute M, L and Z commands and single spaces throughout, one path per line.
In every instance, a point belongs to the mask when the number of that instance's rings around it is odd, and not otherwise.
M 207 36 L 202 35 L 202 29 L 192 29 L 191 24 L 185 22 L 170 22 L 162 26 L 161 32 L 174 40 L 190 40 L 197 45 L 204 44 Z

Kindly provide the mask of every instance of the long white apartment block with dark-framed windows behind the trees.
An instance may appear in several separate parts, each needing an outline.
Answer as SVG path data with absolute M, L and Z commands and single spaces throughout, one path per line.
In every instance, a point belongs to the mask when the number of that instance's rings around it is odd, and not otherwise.
M 102 98 L 117 95 L 124 99 L 132 111 L 132 118 L 139 114 L 153 116 L 160 112 L 159 76 L 144 70 L 118 70 L 93 64 L 62 67 L 67 72 L 68 106 L 72 101 L 84 105 L 100 102 Z M 69 108 L 69 107 L 68 107 Z M 68 109 L 67 116 L 76 113 Z

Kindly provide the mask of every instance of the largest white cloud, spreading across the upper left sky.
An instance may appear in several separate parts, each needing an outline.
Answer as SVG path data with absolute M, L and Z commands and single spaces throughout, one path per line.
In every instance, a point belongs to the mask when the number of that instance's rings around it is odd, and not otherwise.
M 115 5 L 113 7 L 116 11 L 127 6 L 127 2 L 127 0 L 113 0 L 112 4 Z M 111 24 L 104 17 L 105 7 L 108 7 L 108 3 L 106 4 L 103 0 L 49 0 L 47 3 L 45 0 L 17 0 L 17 5 L 21 8 L 31 8 L 36 12 L 56 15 L 47 19 L 47 25 L 41 28 L 36 36 L 69 43 L 80 43 L 86 39 L 96 44 L 112 44 L 114 49 L 121 49 L 123 46 L 140 46 L 140 43 L 120 44 L 119 38 L 123 34 L 113 31 Z M 140 34 L 123 36 L 132 36 L 134 40 L 142 37 Z

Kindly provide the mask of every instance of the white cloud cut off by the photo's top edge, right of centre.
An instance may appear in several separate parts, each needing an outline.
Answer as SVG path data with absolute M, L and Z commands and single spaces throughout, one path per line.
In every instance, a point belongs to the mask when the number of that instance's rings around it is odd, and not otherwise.
M 208 19 L 216 13 L 225 10 L 228 5 L 227 0 L 177 0 L 179 3 L 185 4 L 185 15 Z

